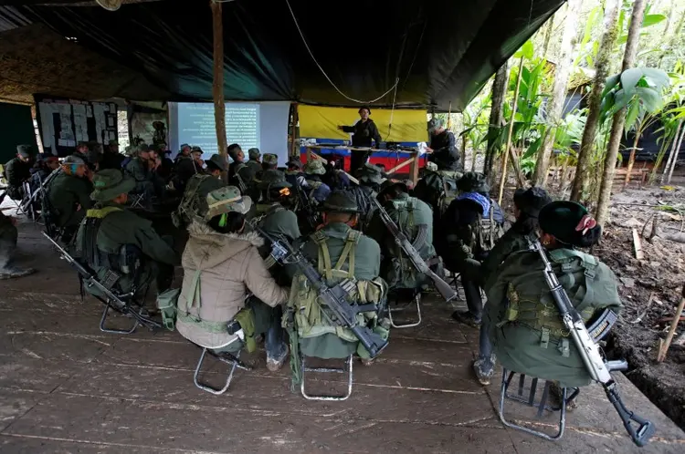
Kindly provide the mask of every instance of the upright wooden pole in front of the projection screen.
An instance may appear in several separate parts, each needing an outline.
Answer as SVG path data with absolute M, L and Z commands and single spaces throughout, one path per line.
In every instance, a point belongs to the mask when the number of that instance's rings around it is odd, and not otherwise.
M 221 4 L 212 0 L 212 32 L 214 36 L 214 80 L 212 96 L 214 98 L 214 122 L 216 127 L 216 145 L 219 155 L 227 160 L 226 137 L 226 100 L 224 99 L 224 17 Z M 225 180 L 228 176 L 226 175 Z

